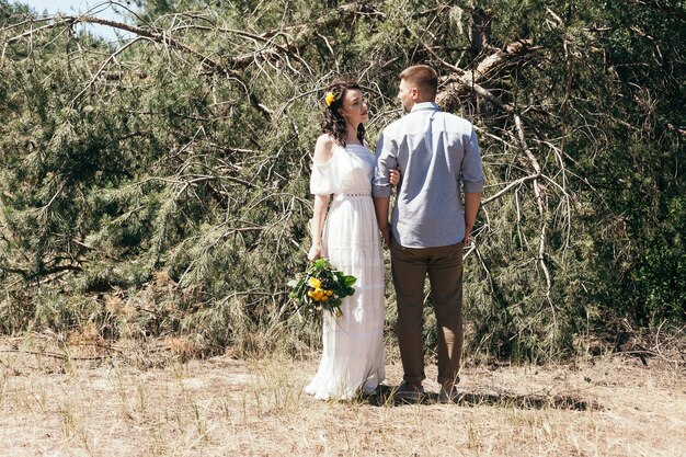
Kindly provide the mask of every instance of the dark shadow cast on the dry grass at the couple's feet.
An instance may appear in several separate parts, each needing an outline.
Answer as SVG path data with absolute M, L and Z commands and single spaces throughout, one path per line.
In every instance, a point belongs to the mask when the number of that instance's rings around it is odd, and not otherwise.
M 396 387 L 379 386 L 376 393 L 363 399 L 374 407 L 402 407 L 414 404 L 393 396 Z M 438 402 L 438 395 L 427 392 L 422 404 L 435 404 Z M 594 400 L 584 400 L 572 396 L 540 396 L 540 395 L 514 395 L 514 393 L 482 393 L 465 392 L 460 393 L 457 404 L 460 407 L 500 407 L 519 408 L 524 410 L 560 409 L 573 411 L 603 411 L 599 403 Z

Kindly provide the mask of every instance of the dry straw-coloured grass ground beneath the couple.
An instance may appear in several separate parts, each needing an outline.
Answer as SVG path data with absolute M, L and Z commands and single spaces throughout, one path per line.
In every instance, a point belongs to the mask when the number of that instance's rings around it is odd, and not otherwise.
M 181 363 L 151 347 L 105 358 L 98 346 L 79 347 L 0 341 L 0 455 L 652 457 L 686 449 L 683 367 L 655 358 L 647 367 L 620 357 L 466 367 L 460 405 L 393 405 L 302 395 L 316 359 Z M 397 363 L 388 377 L 400 381 Z

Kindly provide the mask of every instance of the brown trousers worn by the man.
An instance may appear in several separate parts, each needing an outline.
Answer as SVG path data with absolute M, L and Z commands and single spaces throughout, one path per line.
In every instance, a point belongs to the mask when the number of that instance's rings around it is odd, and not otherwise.
M 438 332 L 438 382 L 459 381 L 462 352 L 462 243 L 439 248 L 390 244 L 398 301 L 398 344 L 407 382 L 420 384 L 424 374 L 422 309 L 428 274 Z

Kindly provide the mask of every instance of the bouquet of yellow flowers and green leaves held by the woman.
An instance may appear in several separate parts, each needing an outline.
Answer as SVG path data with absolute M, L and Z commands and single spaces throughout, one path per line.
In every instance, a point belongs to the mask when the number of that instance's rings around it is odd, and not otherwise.
M 336 270 L 328 259 L 318 259 L 295 279 L 288 282 L 290 298 L 308 312 L 329 311 L 336 318 L 342 316 L 341 301 L 355 293 L 357 278 Z

